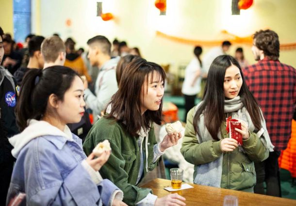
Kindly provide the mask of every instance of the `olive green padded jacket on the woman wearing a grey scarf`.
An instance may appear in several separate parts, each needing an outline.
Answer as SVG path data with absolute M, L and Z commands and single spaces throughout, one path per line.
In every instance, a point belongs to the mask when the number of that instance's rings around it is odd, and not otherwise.
M 195 108 L 191 109 L 187 115 L 181 153 L 189 163 L 200 165 L 214 161 L 223 154 L 220 146 L 222 140 L 198 143 L 193 127 L 194 110 Z M 228 138 L 225 122 L 222 122 L 220 132 L 222 139 Z M 221 188 L 253 191 L 256 184 L 254 161 L 266 159 L 269 152 L 254 132 L 249 132 L 249 134 L 250 137 L 243 140 L 245 153 L 240 152 L 238 147 L 232 152 L 224 153 Z M 197 175 L 196 169 L 195 167 L 193 178 Z

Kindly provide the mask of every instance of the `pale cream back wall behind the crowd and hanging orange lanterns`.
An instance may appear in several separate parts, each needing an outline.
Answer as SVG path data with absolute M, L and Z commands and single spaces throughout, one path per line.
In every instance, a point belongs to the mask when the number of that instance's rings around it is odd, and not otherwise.
M 281 43 L 296 42 L 296 0 L 254 0 L 253 6 L 230 15 L 231 0 L 167 0 L 167 15 L 159 16 L 155 0 L 103 0 L 103 12 L 115 19 L 102 21 L 96 16 L 99 0 L 40 0 L 40 33 L 71 36 L 77 47 L 95 35 L 126 40 L 130 47 L 139 47 L 148 61 L 171 63 L 172 70 L 193 57 L 193 45 L 173 42 L 156 36 L 156 31 L 193 40 L 224 40 L 222 30 L 248 36 L 260 29 L 278 32 Z M 72 25 L 66 26 L 66 19 Z M 233 45 L 230 54 L 243 46 L 245 56 L 255 63 L 250 46 Z M 203 47 L 204 53 L 209 47 Z M 280 61 L 296 67 L 296 50 L 281 51 Z

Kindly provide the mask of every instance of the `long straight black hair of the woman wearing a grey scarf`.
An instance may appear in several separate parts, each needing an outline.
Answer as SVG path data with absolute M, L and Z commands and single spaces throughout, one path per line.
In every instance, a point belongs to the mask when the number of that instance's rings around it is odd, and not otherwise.
M 243 84 L 239 92 L 239 96 L 250 114 L 253 125 L 257 128 L 261 128 L 261 121 L 263 116 L 260 112 L 260 107 L 249 91 L 244 74 L 239 63 L 229 55 L 221 55 L 214 59 L 210 66 L 208 79 L 205 87 L 204 96 L 202 98 L 203 102 L 197 109 L 194 116 L 193 125 L 195 132 L 200 136 L 198 131 L 198 122 L 201 114 L 204 115 L 204 123 L 210 132 L 214 140 L 218 139 L 219 128 L 223 121 L 225 121 L 224 105 L 225 105 L 225 95 L 224 95 L 224 77 L 225 72 L 228 67 L 235 65 L 239 68 L 241 77 L 243 79 Z

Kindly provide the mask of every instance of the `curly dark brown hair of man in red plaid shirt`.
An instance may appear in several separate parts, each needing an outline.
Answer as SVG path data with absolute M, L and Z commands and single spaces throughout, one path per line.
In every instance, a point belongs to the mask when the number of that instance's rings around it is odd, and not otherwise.
M 269 60 L 278 60 L 280 57 L 279 36 L 272 30 L 260 30 L 253 35 L 255 46 L 263 50 Z

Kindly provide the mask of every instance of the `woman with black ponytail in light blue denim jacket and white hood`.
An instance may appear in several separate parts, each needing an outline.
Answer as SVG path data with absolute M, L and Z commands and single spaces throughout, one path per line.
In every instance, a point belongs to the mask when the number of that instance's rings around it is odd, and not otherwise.
M 120 191 L 98 173 L 110 156 L 85 156 L 82 141 L 66 126 L 81 120 L 83 82 L 64 66 L 30 69 L 16 106 L 22 131 L 9 141 L 16 158 L 7 204 L 19 193 L 21 205 L 126 206 Z

